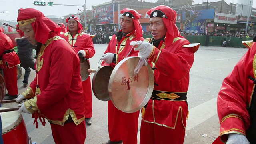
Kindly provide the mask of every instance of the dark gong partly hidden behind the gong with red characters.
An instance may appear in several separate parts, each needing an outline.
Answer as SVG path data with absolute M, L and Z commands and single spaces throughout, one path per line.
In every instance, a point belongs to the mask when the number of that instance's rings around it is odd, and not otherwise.
M 111 66 L 103 66 L 95 72 L 92 78 L 92 91 L 99 100 L 110 100 L 108 94 L 108 82 L 112 71 L 113 68 Z

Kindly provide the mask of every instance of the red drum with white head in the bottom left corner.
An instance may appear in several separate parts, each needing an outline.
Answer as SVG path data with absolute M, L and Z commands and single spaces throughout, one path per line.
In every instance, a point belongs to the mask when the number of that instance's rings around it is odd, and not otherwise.
M 28 144 L 26 125 L 18 111 L 1 112 L 1 118 L 4 144 Z

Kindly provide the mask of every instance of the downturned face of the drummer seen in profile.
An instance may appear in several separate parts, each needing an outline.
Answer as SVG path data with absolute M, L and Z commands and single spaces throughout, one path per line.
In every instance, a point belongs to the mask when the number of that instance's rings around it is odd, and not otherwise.
M 24 37 L 32 44 L 36 45 L 38 42 L 35 39 L 35 32 L 31 24 L 20 26 L 20 30 L 24 32 Z

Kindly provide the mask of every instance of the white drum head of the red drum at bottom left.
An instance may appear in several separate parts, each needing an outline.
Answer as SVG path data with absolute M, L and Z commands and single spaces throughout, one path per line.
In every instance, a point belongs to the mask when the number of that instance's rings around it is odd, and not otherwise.
M 8 109 L 8 108 L 0 108 Z M 6 134 L 16 128 L 18 124 L 22 121 L 22 116 L 18 111 L 10 111 L 10 112 L 2 112 L 1 113 L 2 120 L 2 134 Z

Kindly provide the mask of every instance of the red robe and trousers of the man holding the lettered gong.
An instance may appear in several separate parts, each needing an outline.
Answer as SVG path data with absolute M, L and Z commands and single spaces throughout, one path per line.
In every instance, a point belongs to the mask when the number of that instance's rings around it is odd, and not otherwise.
M 186 94 L 188 91 L 194 52 L 200 45 L 188 44 L 190 44 L 188 40 L 179 37 L 175 38 L 170 46 L 166 46 L 161 41 L 158 48 L 155 48 L 149 56 L 151 66 L 156 68 L 153 70 L 154 90 L 159 91 L 158 93 L 163 96 L 170 96 L 168 97 L 170 99 L 151 98 L 146 108 L 142 108 L 140 144 L 184 142 L 188 104 L 186 100 L 175 100 L 177 97 L 174 93 Z

